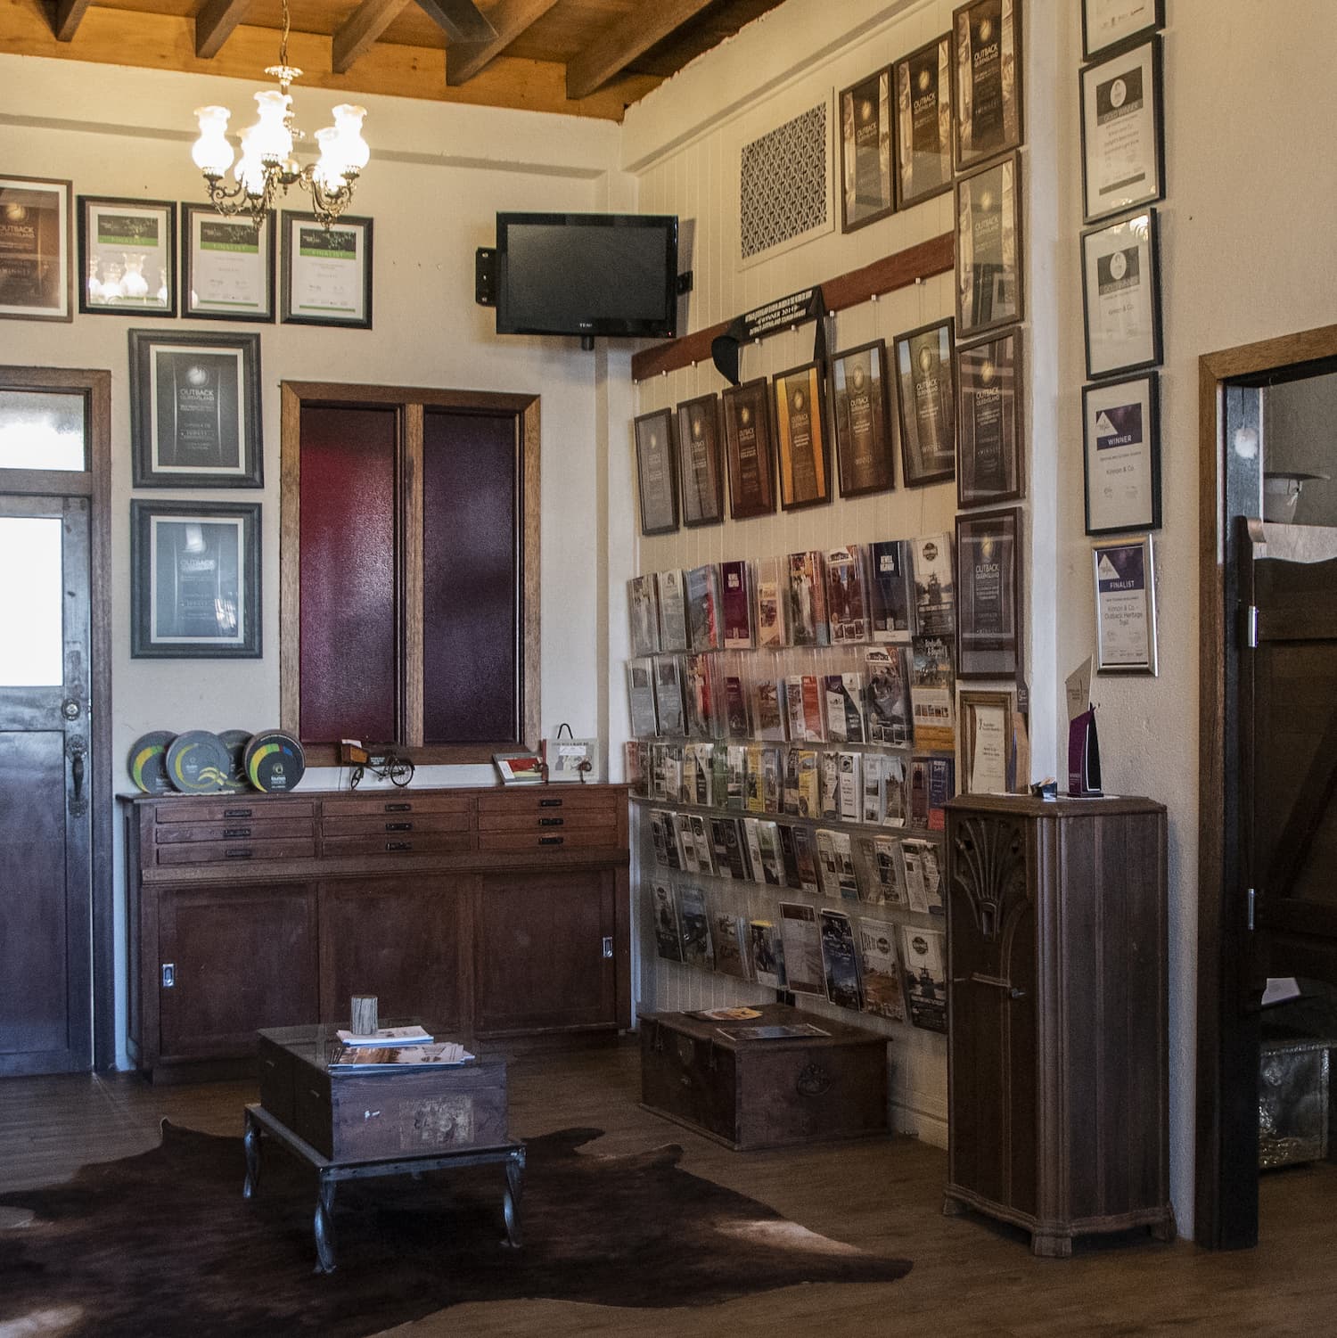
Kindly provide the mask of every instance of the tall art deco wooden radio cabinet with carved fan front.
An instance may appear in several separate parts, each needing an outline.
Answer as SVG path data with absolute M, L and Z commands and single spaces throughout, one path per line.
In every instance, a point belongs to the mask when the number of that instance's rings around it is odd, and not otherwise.
M 952 800 L 948 969 L 944 1211 L 1170 1239 L 1164 807 Z

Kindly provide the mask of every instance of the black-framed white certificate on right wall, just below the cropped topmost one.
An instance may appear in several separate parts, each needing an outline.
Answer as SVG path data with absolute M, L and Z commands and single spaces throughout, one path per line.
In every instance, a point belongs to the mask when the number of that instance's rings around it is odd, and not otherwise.
M 1081 71 L 1081 183 L 1088 223 L 1163 199 L 1160 37 Z

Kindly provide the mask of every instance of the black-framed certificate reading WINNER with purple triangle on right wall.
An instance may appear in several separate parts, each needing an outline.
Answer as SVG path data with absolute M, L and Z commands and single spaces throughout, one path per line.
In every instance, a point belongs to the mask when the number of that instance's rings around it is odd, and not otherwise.
M 1087 534 L 1160 529 L 1160 377 L 1081 391 Z

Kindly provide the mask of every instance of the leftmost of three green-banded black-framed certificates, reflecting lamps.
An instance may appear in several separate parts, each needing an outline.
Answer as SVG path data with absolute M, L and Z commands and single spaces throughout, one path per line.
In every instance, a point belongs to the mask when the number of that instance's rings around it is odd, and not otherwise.
M 177 206 L 79 197 L 79 310 L 177 314 Z

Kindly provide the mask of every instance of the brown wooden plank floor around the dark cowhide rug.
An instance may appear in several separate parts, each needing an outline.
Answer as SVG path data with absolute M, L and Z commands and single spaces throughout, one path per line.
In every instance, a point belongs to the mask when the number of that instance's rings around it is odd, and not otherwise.
M 531 1054 L 511 1066 L 511 1121 L 531 1137 L 567 1125 L 605 1136 L 588 1152 L 684 1147 L 696 1175 L 768 1203 L 812 1231 L 914 1260 L 898 1283 L 804 1286 L 701 1309 L 633 1310 L 525 1301 L 458 1306 L 392 1330 L 412 1338 L 621 1334 L 940 1334 L 1041 1338 L 1337 1333 L 1337 1165 L 1265 1176 L 1263 1243 L 1211 1254 L 1135 1232 L 1032 1258 L 1025 1238 L 977 1216 L 944 1218 L 945 1155 L 911 1139 L 735 1153 L 641 1111 L 638 1056 L 616 1048 Z M 153 1147 L 163 1116 L 238 1133 L 250 1084 L 151 1088 L 139 1078 L 0 1081 L 0 1188 L 67 1176 L 82 1161 Z M 3 1247 L 3 1232 L 0 1232 Z

